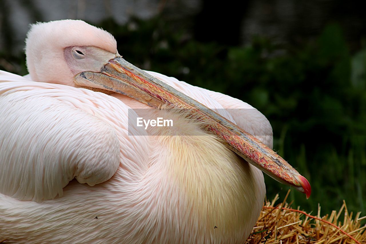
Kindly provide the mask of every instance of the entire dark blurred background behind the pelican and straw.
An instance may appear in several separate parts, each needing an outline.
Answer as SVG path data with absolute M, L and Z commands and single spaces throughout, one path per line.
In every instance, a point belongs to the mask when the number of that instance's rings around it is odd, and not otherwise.
M 0 0 L 1 70 L 27 73 L 29 23 L 84 19 L 111 32 L 136 66 L 258 108 L 274 150 L 312 186 L 309 200 L 291 191 L 294 207 L 316 212 L 320 203 L 330 214 L 344 199 L 366 214 L 366 8 L 358 1 L 59 2 Z M 269 199 L 285 196 L 287 186 L 265 181 Z

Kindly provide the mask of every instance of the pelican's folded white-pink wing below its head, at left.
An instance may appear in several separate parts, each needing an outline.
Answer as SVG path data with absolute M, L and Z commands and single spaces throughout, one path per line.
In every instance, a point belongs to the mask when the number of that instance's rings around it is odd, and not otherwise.
M 115 130 L 42 84 L 0 75 L 0 193 L 19 200 L 62 196 L 73 178 L 107 181 L 120 162 Z

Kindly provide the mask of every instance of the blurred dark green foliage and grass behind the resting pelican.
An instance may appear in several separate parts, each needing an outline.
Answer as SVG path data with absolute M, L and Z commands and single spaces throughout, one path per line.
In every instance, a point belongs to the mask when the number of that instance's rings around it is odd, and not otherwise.
M 325 214 L 345 199 L 349 210 L 366 214 L 366 47 L 350 53 L 338 25 L 298 46 L 255 37 L 229 47 L 195 41 L 189 28 L 159 17 L 93 24 L 111 32 L 119 53 L 136 66 L 258 108 L 272 124 L 275 151 L 312 186 L 309 200 L 291 191 L 294 206 L 315 211 L 320 203 Z M 4 57 L 14 67 L 9 71 L 25 73 L 24 55 Z M 287 186 L 265 181 L 269 199 L 284 197 Z

